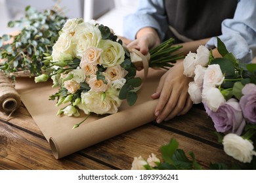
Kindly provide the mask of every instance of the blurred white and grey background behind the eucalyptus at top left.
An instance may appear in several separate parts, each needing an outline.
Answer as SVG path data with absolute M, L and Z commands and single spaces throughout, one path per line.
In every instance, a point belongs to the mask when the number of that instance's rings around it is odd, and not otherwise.
M 39 11 L 58 5 L 68 18 L 95 19 L 114 29 L 116 35 L 123 35 L 123 16 L 137 9 L 138 0 L 0 0 L 0 35 L 18 30 L 7 24 L 24 16 L 28 5 Z

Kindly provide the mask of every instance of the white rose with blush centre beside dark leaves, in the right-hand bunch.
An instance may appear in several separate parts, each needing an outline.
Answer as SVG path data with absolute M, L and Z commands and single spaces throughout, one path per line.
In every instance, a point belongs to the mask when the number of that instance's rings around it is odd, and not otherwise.
M 218 64 L 209 65 L 203 76 L 203 88 L 217 87 L 223 83 L 224 76 Z

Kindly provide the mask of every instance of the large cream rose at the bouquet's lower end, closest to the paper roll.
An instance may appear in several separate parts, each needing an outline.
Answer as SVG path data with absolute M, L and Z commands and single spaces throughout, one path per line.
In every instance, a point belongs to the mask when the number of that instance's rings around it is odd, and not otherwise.
M 102 92 L 81 93 L 81 104 L 77 105 L 85 114 L 94 112 L 96 114 L 114 114 L 117 112 L 115 101 L 106 94 L 102 101 Z

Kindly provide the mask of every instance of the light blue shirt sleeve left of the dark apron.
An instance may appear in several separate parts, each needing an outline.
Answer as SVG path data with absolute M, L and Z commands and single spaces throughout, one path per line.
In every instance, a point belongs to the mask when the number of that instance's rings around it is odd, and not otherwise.
M 129 14 L 123 19 L 123 35 L 134 40 L 137 32 L 143 27 L 153 27 L 163 39 L 167 30 L 167 18 L 163 0 L 140 0 L 139 7 L 134 14 Z

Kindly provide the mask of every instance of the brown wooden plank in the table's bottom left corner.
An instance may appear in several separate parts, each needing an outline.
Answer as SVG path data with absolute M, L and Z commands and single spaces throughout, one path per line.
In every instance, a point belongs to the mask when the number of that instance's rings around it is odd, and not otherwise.
M 3 169 L 111 169 L 80 154 L 57 160 L 53 157 L 45 139 L 2 122 L 0 122 L 0 167 Z

